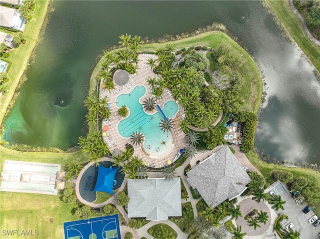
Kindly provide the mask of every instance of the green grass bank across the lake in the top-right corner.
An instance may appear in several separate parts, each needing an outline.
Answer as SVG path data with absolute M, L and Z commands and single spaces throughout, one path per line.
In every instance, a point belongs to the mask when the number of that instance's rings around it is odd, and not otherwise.
M 281 20 L 285 29 L 290 33 L 293 40 L 312 61 L 315 68 L 320 71 L 320 47 L 314 44 L 305 34 L 299 18 L 292 12 L 287 1 L 267 0 L 267 4 Z

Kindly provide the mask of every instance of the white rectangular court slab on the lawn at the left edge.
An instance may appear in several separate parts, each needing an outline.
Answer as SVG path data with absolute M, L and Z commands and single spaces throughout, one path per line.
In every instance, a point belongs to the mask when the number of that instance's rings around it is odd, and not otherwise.
M 6 160 L 0 177 L 0 191 L 57 195 L 60 169 L 60 164 Z

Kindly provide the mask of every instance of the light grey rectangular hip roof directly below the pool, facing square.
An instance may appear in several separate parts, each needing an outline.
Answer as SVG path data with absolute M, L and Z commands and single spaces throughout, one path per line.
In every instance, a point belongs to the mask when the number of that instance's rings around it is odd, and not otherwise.
M 180 178 L 128 179 L 128 217 L 159 221 L 182 216 Z

